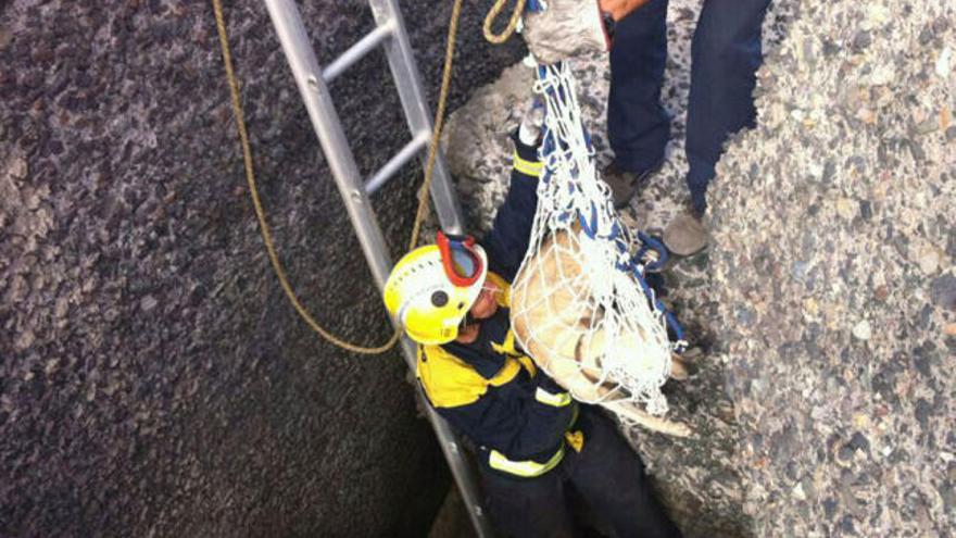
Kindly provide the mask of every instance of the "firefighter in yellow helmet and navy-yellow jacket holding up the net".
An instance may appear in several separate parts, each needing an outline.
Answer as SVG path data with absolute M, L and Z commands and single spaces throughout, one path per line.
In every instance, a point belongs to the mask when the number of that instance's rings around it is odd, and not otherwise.
M 418 343 L 429 404 L 474 449 L 500 531 L 580 536 L 574 498 L 621 538 L 679 537 L 614 423 L 573 400 L 515 343 L 510 281 L 528 249 L 542 164 L 530 122 L 513 139 L 511 187 L 491 232 L 480 243 L 439 233 L 407 253 L 386 283 L 386 305 Z

